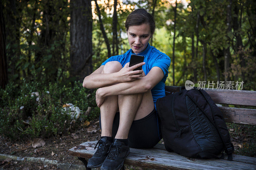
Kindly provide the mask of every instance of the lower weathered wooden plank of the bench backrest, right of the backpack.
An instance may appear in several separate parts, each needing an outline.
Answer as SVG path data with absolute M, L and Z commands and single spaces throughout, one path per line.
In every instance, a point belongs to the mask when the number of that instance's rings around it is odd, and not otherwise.
M 256 109 L 219 107 L 225 122 L 256 125 Z

